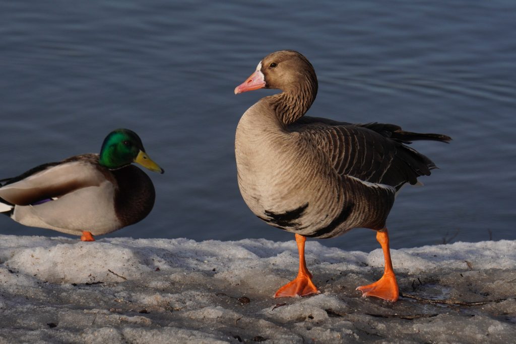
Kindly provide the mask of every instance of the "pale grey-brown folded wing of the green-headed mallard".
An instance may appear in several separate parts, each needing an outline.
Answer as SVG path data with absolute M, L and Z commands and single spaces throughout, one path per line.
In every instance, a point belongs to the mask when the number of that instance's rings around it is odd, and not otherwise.
M 79 188 L 98 186 L 106 175 L 85 160 L 38 166 L 8 180 L 0 187 L 0 198 L 11 204 L 28 205 L 71 193 Z

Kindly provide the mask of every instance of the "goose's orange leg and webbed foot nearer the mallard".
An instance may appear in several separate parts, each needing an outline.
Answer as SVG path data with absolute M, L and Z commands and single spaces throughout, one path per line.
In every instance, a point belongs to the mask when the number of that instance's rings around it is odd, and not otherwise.
M 317 290 L 317 287 L 312 283 L 312 274 L 308 271 L 307 263 L 304 261 L 305 241 L 307 241 L 307 238 L 296 234 L 297 250 L 299 251 L 299 271 L 294 281 L 288 282 L 276 291 L 274 295 L 275 298 L 319 294 L 319 290 Z

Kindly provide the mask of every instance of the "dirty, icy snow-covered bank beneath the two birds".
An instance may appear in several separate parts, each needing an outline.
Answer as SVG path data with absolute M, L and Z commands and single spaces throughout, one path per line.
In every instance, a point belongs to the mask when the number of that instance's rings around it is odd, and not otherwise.
M 512 342 L 516 241 L 392 251 L 395 304 L 354 290 L 381 250 L 307 242 L 320 295 L 273 299 L 297 272 L 294 240 L 0 235 L 0 343 Z M 487 302 L 473 305 L 471 302 Z M 466 304 L 459 304 L 464 302 Z

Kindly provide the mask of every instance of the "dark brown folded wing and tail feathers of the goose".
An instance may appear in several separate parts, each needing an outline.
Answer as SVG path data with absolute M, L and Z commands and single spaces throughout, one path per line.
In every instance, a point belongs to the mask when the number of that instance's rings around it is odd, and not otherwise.
M 436 165 L 405 144 L 415 140 L 447 142 L 446 135 L 403 131 L 393 124 L 348 124 L 326 118 L 302 117 L 289 127 L 325 151 L 340 175 L 396 188 L 417 183 Z M 404 144 L 405 143 L 405 144 Z

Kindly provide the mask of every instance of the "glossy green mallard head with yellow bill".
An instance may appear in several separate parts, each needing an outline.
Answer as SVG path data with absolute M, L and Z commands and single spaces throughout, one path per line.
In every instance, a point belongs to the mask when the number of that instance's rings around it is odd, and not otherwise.
M 99 163 L 109 169 L 117 169 L 133 162 L 154 172 L 165 172 L 149 158 L 140 137 L 134 131 L 129 129 L 111 131 L 102 144 Z

